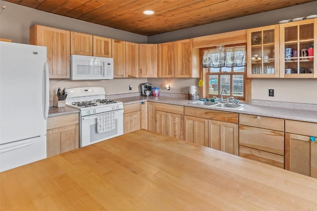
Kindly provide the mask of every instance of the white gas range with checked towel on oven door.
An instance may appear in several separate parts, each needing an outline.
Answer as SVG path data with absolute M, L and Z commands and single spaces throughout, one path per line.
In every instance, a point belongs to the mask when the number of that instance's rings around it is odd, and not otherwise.
M 66 91 L 66 105 L 80 110 L 79 147 L 123 134 L 123 103 L 105 99 L 103 87 Z

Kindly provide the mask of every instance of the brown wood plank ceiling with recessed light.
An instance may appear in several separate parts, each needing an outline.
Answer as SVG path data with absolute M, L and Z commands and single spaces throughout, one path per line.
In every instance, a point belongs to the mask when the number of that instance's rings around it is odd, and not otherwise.
M 6 0 L 115 29 L 152 36 L 314 0 Z M 154 10 L 144 15 L 144 10 Z M 308 14 L 311 15 L 311 14 Z

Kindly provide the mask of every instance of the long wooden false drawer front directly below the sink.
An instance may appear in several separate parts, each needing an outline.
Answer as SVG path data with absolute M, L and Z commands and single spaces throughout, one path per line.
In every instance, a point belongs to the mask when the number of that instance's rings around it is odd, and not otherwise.
M 184 107 L 184 114 L 187 116 L 200 117 L 221 122 L 238 124 L 238 113 L 216 111 L 211 109 Z

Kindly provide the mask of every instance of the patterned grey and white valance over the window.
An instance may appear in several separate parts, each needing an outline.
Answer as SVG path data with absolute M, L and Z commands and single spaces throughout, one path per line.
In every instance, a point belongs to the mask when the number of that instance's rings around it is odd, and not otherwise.
M 203 67 L 246 66 L 246 46 L 204 50 Z

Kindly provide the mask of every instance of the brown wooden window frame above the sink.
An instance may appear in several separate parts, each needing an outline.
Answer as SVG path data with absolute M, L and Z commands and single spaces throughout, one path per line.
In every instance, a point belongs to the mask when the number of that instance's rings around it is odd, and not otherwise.
M 224 47 L 234 47 L 234 46 L 246 46 L 246 51 L 247 51 L 247 43 L 237 43 L 237 44 L 227 44 L 224 45 Z M 209 76 L 210 75 L 216 75 L 218 76 L 218 87 L 220 87 L 219 84 L 219 80 L 220 80 L 220 76 L 221 75 L 230 75 L 230 95 L 224 95 L 225 97 L 232 97 L 232 89 L 233 89 L 233 85 L 232 85 L 232 81 L 233 81 L 233 75 L 243 75 L 243 96 L 233 96 L 234 99 L 238 99 L 240 101 L 249 101 L 248 99 L 248 95 L 247 93 L 251 93 L 251 80 L 249 78 L 247 78 L 247 65 L 244 67 L 244 72 L 233 72 L 233 68 L 231 67 L 231 72 L 221 72 L 221 68 L 219 68 L 219 72 L 216 73 L 212 73 L 207 71 L 207 69 L 209 68 L 204 68 L 202 65 L 202 61 L 203 61 L 203 56 L 204 56 L 204 50 L 211 50 L 211 49 L 216 49 L 216 46 L 211 46 L 211 47 L 204 47 L 204 48 L 200 48 L 199 49 L 199 54 L 200 54 L 200 72 L 201 74 L 201 79 L 204 80 L 204 97 L 206 98 L 212 98 L 213 96 L 216 96 L 217 98 L 220 98 L 221 93 L 220 90 L 218 88 L 218 94 L 209 94 L 209 88 L 210 88 L 210 82 L 209 82 Z M 246 52 L 247 55 L 247 52 Z

